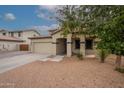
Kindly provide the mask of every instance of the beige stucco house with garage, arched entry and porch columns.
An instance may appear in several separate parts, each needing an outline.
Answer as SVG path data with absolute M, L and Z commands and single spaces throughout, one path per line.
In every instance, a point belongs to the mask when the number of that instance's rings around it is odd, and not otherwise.
M 51 30 L 49 32 L 49 36 L 30 38 L 32 52 L 51 55 L 64 54 L 68 57 L 77 53 L 82 53 L 84 56 L 96 55 L 96 43 L 98 40 L 94 37 L 76 33 L 64 37 L 61 30 Z

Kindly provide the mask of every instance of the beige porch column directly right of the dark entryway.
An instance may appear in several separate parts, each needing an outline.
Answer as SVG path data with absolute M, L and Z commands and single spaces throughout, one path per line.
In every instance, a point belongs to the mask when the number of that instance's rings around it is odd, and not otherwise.
M 72 56 L 72 34 L 67 36 L 67 57 Z

